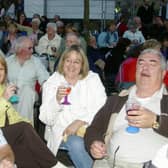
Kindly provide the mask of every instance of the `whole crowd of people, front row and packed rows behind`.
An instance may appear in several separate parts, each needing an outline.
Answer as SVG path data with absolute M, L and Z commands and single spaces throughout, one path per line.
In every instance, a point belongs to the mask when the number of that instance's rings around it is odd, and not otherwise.
M 30 21 L 0 6 L 0 168 L 65 168 L 59 150 L 75 168 L 166 168 L 168 26 L 142 2 L 88 41 L 57 14 Z

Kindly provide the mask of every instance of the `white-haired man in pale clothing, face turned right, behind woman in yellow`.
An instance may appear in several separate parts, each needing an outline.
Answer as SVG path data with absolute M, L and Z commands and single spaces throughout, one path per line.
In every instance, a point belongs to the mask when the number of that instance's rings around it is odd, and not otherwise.
M 8 81 L 18 88 L 19 102 L 14 104 L 22 117 L 34 121 L 35 84 L 42 85 L 49 73 L 39 58 L 32 55 L 33 42 L 28 37 L 19 37 L 15 44 L 15 54 L 7 58 Z

